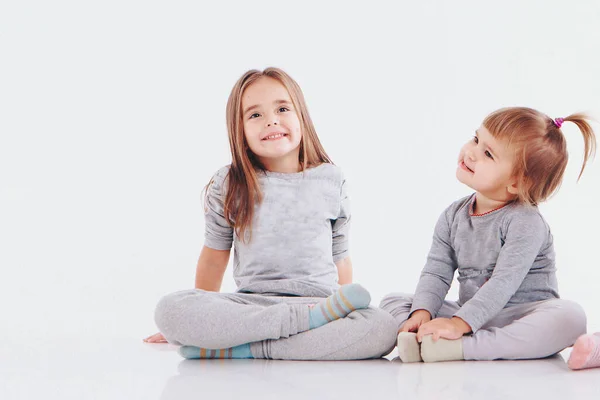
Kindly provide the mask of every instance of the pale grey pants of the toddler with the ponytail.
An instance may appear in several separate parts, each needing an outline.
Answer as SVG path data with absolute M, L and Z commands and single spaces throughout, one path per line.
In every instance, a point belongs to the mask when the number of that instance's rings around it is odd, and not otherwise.
M 413 297 L 392 293 L 380 307 L 400 326 L 408 319 Z M 451 318 L 460 307 L 444 301 L 437 317 Z M 572 346 L 586 332 L 586 316 L 577 303 L 553 299 L 508 307 L 480 330 L 463 337 L 465 360 L 544 358 Z

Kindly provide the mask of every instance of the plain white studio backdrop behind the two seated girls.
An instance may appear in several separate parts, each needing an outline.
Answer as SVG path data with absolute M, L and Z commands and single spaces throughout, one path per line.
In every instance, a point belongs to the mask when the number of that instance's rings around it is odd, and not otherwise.
M 1 0 L 0 343 L 156 331 L 160 296 L 193 287 L 201 191 L 230 161 L 225 104 L 250 68 L 299 82 L 346 173 L 355 281 L 375 303 L 413 291 L 486 114 L 600 115 L 599 26 L 595 0 Z M 576 184 L 582 139 L 564 131 L 541 208 L 561 294 L 600 330 L 600 159 Z

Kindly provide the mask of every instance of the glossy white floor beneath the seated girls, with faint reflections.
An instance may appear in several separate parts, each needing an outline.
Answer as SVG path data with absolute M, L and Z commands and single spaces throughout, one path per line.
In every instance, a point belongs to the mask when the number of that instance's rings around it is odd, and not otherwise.
M 0 399 L 600 399 L 600 369 L 545 360 L 403 364 L 183 360 L 139 339 L 0 344 Z

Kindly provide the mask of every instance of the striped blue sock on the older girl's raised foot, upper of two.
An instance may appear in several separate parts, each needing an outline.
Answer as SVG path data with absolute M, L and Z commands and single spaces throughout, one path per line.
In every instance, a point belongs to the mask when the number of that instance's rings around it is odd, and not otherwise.
M 367 308 L 371 295 L 357 283 L 344 285 L 323 301 L 311 306 L 309 329 L 315 329 L 328 322 L 344 318 L 354 310 Z

